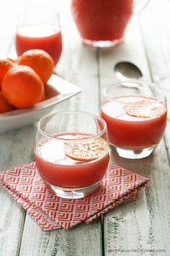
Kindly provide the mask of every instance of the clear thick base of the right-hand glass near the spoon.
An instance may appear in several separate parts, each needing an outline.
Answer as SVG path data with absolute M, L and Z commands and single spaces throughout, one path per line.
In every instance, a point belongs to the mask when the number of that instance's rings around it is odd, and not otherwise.
M 156 148 L 156 145 L 149 148 L 120 148 L 115 145 L 111 145 L 111 148 L 122 158 L 140 159 L 151 155 L 153 150 Z

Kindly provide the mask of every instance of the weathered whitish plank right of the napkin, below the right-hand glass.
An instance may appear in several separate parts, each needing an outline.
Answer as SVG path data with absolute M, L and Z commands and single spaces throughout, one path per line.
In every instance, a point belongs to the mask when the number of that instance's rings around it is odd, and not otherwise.
M 135 255 L 142 254 L 140 249 L 143 255 L 156 255 L 156 251 L 146 252 L 146 249 L 161 249 L 158 255 L 169 255 L 170 176 L 164 141 L 149 158 L 130 161 L 113 153 L 113 161 L 147 176 L 150 183 L 137 201 L 104 216 L 106 255 L 120 255 L 120 249 L 125 250 L 121 255 L 128 255 L 128 249 L 137 249 Z

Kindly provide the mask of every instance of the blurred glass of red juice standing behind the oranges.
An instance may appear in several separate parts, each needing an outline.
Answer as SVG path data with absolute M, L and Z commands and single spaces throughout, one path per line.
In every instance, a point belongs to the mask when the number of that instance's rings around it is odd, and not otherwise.
M 29 8 L 18 17 L 15 35 L 17 55 L 30 49 L 47 51 L 56 65 L 62 52 L 58 13 L 50 8 Z

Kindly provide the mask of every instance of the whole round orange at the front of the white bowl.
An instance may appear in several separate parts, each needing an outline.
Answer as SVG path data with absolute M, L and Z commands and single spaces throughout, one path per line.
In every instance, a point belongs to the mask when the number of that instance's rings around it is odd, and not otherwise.
M 19 65 L 6 72 L 1 91 L 8 103 L 16 108 L 27 108 L 40 101 L 44 85 L 33 69 Z

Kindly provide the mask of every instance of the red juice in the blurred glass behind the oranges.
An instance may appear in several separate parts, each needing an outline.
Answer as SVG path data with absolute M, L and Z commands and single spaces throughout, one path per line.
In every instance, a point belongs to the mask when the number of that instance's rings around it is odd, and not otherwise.
M 27 25 L 19 27 L 15 38 L 17 55 L 30 49 L 47 51 L 57 64 L 62 51 L 61 31 L 54 25 Z

